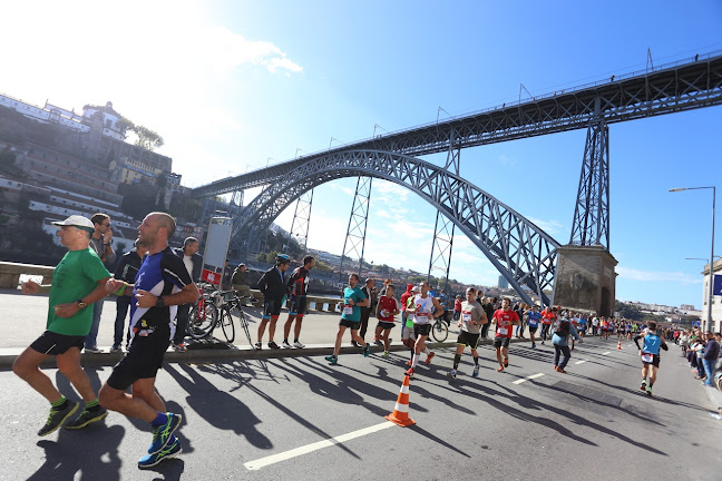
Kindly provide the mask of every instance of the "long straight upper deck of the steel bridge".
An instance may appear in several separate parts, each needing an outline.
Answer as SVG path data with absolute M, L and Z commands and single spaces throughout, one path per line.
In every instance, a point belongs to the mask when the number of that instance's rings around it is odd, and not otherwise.
M 486 110 L 389 132 L 311 154 L 299 159 L 216 180 L 194 189 L 196 197 L 265 185 L 316 157 L 343 150 L 384 150 L 409 156 L 446 151 L 450 145 L 475 147 L 575 130 L 595 118 L 607 124 L 673 114 L 722 104 L 722 55 L 710 53 L 689 62 L 674 62 L 613 76 L 608 80 L 520 99 Z

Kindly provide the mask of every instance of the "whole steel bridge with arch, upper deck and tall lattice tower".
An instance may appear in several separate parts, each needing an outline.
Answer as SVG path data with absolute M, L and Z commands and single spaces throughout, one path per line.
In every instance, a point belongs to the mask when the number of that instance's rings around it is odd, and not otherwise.
M 250 225 L 253 216 L 257 216 L 260 226 L 269 225 L 281 212 L 276 210 L 279 206 L 287 205 L 314 185 L 359 175 L 387 178 L 417 192 L 452 219 L 525 301 L 528 298 L 521 285 L 547 303 L 542 291 L 554 285 L 558 243 L 479 188 L 411 156 L 587 128 L 570 243 L 608 249 L 608 125 L 721 104 L 722 55 L 714 52 L 347 144 L 221 179 L 193 193 L 195 197 L 208 197 L 266 186 L 236 223 L 241 228 Z M 320 170 L 313 173 L 313 168 Z M 392 175 L 397 171 L 406 177 Z M 299 178 L 302 173 L 308 175 Z M 291 178 L 297 179 L 295 184 L 286 181 Z M 438 184 L 441 179 L 446 184 Z M 451 194 L 439 190 L 445 188 Z M 451 195 L 461 197 L 455 202 Z

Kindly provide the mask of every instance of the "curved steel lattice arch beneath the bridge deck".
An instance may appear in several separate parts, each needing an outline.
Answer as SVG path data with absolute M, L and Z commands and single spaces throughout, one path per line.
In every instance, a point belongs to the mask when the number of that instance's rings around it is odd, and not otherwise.
M 460 176 L 425 160 L 380 150 L 345 150 L 316 157 L 267 185 L 235 219 L 234 236 L 247 248 L 256 233 L 303 193 L 344 177 L 375 177 L 409 188 L 449 218 L 531 304 L 554 288 L 559 244 L 531 222 Z M 546 292 L 545 292 L 546 291 Z

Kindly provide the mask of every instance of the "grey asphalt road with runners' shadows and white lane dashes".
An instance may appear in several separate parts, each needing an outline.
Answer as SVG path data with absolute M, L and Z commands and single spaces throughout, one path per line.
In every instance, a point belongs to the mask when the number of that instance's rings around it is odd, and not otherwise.
M 150 441 L 145 423 L 110 413 L 99 425 L 38 438 L 47 403 L 0 371 L 0 480 L 720 479 L 722 421 L 675 347 L 663 354 L 655 397 L 638 390 L 628 342 L 617 351 L 616 342 L 587 341 L 569 374 L 552 370 L 549 345 L 513 345 L 506 373 L 495 371 L 490 347 L 480 353 L 478 379 L 465 354 L 449 382 L 450 350 L 418 370 L 411 428 L 382 424 L 406 353 L 342 355 L 336 366 L 321 356 L 166 364 L 157 386 L 184 415 L 184 453 L 149 472 L 136 467 Z M 110 373 L 88 371 L 95 385 Z M 515 383 L 535 374 L 544 375 Z

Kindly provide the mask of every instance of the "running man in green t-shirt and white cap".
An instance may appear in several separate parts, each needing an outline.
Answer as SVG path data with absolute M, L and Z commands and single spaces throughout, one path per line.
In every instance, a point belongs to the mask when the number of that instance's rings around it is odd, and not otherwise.
M 108 412 L 98 404 L 88 374 L 80 365 L 80 349 L 92 323 L 92 303 L 106 296 L 105 284 L 110 273 L 90 249 L 92 223 L 81 216 L 70 216 L 60 226 L 60 244 L 68 248 L 52 272 L 52 284 L 39 285 L 32 281 L 22 284 L 22 294 L 50 293 L 48 322 L 42 333 L 12 363 L 12 371 L 50 403 L 50 414 L 38 431 L 45 436 L 55 432 L 80 405 L 69 402 L 46 373 L 40 370 L 48 356 L 56 356 L 62 373 L 85 401 L 85 409 L 67 429 L 80 429 L 100 421 Z

